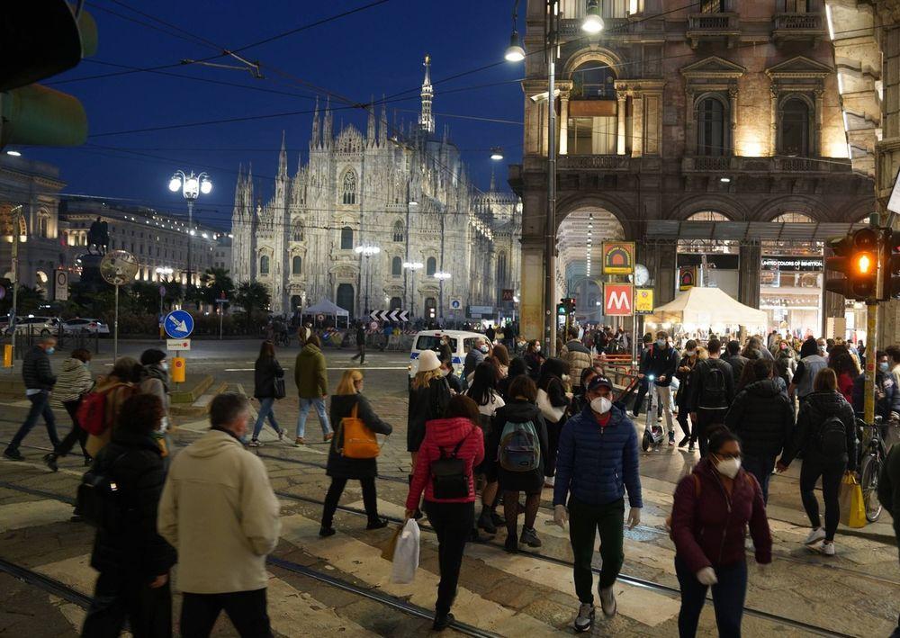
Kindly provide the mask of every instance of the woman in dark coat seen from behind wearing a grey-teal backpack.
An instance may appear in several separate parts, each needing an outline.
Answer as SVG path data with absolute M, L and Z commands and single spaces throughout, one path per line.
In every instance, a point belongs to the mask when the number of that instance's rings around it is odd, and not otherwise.
M 584 369 L 587 376 L 593 374 L 590 368 Z M 582 374 L 582 378 L 586 375 Z M 500 490 L 503 491 L 503 513 L 507 527 L 506 549 L 509 552 L 518 550 L 519 542 L 529 547 L 540 547 L 541 539 L 537 537 L 535 520 L 537 508 L 541 504 L 541 489 L 544 487 L 544 464 L 547 451 L 547 426 L 541 410 L 536 405 L 537 386 L 527 376 L 519 375 L 509 384 L 509 402 L 497 410 L 494 417 L 494 430 L 491 441 L 487 444 L 488 455 L 502 461 L 503 453 L 500 445 L 504 444 L 503 433 L 507 425 L 518 427 L 518 424 L 531 423 L 534 431 L 528 434 L 536 436 L 532 441 L 538 447 L 537 467 L 527 472 L 516 472 L 497 464 L 497 476 Z M 521 537 L 517 534 L 518 526 L 518 494 L 525 492 L 525 526 Z

